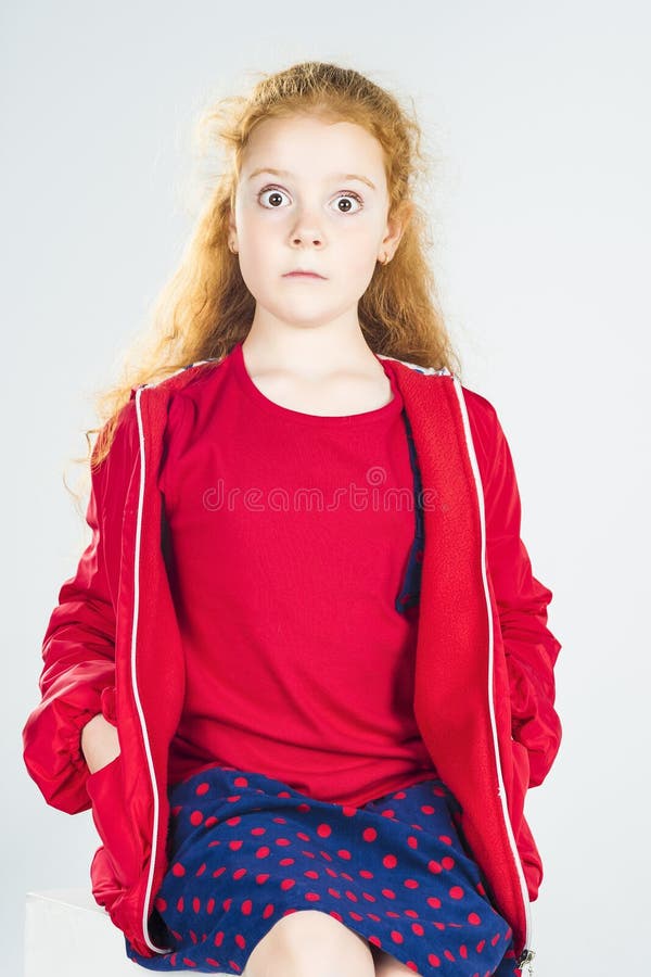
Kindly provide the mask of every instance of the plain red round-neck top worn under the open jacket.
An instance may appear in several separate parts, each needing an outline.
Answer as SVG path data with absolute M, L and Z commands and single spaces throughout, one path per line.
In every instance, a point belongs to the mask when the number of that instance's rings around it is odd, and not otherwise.
M 379 357 L 378 357 L 379 358 Z M 170 783 L 219 763 L 361 804 L 436 771 L 413 716 L 414 534 L 393 399 L 318 416 L 268 399 L 242 344 L 170 403 L 158 484 L 187 661 Z

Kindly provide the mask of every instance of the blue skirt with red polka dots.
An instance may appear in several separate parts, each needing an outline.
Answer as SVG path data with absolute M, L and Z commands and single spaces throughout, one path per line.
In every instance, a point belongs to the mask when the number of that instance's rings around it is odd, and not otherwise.
M 241 974 L 282 916 L 319 910 L 423 975 L 513 977 L 512 931 L 437 777 L 359 808 L 215 766 L 175 785 L 150 970 Z

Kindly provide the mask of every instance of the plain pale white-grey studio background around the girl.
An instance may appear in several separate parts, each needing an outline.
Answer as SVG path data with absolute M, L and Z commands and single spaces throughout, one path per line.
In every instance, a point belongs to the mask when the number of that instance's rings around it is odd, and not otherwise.
M 497 407 L 554 594 L 564 736 L 526 808 L 545 863 L 536 977 L 643 972 L 650 28 L 626 0 L 4 0 L 3 974 L 21 974 L 26 889 L 86 885 L 97 843 L 21 756 L 42 635 L 86 542 L 64 466 L 190 231 L 197 110 L 309 58 L 414 98 L 462 380 Z

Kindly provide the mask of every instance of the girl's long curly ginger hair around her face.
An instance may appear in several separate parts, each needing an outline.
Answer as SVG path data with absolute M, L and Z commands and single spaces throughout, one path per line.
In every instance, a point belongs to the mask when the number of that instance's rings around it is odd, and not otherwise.
M 393 259 L 376 264 L 359 300 L 358 317 L 368 345 L 379 354 L 460 373 L 426 257 L 433 241 L 427 204 L 419 203 L 418 192 L 419 180 L 427 180 L 429 154 L 416 113 L 353 68 L 317 61 L 294 64 L 263 74 L 250 94 L 220 98 L 199 117 L 202 151 L 220 152 L 224 163 L 180 265 L 149 313 L 149 329 L 126 352 L 120 382 L 94 395 L 100 427 L 86 431 L 85 459 L 90 458 L 92 468 L 106 456 L 132 388 L 157 382 L 197 360 L 221 358 L 246 337 L 255 299 L 228 246 L 243 155 L 259 123 L 303 113 L 356 123 L 374 136 L 383 151 L 387 218 L 407 217 Z

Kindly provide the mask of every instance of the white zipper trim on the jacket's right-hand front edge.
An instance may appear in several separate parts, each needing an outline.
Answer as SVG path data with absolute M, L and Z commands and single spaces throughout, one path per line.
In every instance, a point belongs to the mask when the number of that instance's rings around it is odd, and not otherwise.
M 494 671 L 494 662 L 495 662 L 495 648 L 494 648 L 494 634 L 493 634 L 493 612 L 490 608 L 490 595 L 488 591 L 488 581 L 486 579 L 486 516 L 484 509 L 484 490 L 482 486 L 482 477 L 480 474 L 480 466 L 477 464 L 477 458 L 474 449 L 474 444 L 472 441 L 472 432 L 470 429 L 470 421 L 468 418 L 468 407 L 465 405 L 465 398 L 463 396 L 463 391 L 461 390 L 461 382 L 458 377 L 452 377 L 452 381 L 455 384 L 455 392 L 457 394 L 457 398 L 459 401 L 459 407 L 461 409 L 461 416 L 463 418 L 463 433 L 465 435 L 465 443 L 468 447 L 468 454 L 470 457 L 470 465 L 472 468 L 472 473 L 475 480 L 475 488 L 477 493 L 477 500 L 480 505 L 480 523 L 482 530 L 482 583 L 484 585 L 484 596 L 486 598 L 486 609 L 488 617 L 488 711 L 490 714 L 490 726 L 493 729 L 493 747 L 495 750 L 495 759 L 497 766 L 497 778 L 498 778 L 498 795 L 501 801 L 502 815 L 505 819 L 505 824 L 507 827 L 507 835 L 509 837 L 509 845 L 511 847 L 511 852 L 513 853 L 513 859 L 515 861 L 515 865 L 518 868 L 518 878 L 520 880 L 520 888 L 522 890 L 522 900 L 524 903 L 525 914 L 526 914 L 526 932 L 524 940 L 524 951 L 528 951 L 531 956 L 533 957 L 534 951 L 531 949 L 532 937 L 533 937 L 533 926 L 532 926 L 532 912 L 531 912 L 531 901 L 528 898 L 528 889 L 526 886 L 526 879 L 524 877 L 524 871 L 522 867 L 522 862 L 520 860 L 520 852 L 518 851 L 518 845 L 515 843 L 515 836 L 513 835 L 513 826 L 511 824 L 511 819 L 509 815 L 509 809 L 507 804 L 507 795 L 505 791 L 505 783 L 501 773 L 501 765 L 499 760 L 499 743 L 497 738 L 497 723 L 495 720 L 495 702 L 493 697 L 493 671 Z M 531 967 L 529 973 L 533 974 L 533 967 L 531 965 L 531 959 L 527 962 Z

